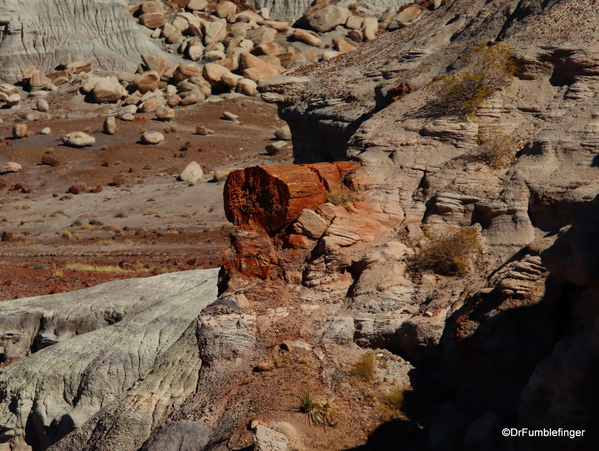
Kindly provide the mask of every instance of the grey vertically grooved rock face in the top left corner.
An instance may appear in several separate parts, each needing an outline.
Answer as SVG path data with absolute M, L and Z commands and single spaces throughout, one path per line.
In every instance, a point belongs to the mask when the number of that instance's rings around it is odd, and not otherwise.
M 121 0 L 0 0 L 0 79 L 30 66 L 48 72 L 69 53 L 95 67 L 135 72 L 141 54 L 175 62 L 143 34 Z

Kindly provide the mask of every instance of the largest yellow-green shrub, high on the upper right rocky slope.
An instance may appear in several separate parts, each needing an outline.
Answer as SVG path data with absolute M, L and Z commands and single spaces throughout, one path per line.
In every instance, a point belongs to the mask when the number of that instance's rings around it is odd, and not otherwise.
M 479 44 L 463 61 L 462 70 L 437 77 L 431 84 L 436 106 L 450 116 L 474 115 L 486 99 L 508 86 L 518 73 L 510 47 L 499 42 Z

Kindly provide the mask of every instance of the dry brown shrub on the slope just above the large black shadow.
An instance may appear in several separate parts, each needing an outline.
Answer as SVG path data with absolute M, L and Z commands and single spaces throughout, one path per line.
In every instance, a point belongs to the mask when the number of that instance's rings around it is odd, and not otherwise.
M 476 252 L 480 252 L 478 236 L 471 228 L 425 231 L 420 249 L 409 261 L 409 269 L 414 275 L 434 272 L 442 276 L 463 277 Z

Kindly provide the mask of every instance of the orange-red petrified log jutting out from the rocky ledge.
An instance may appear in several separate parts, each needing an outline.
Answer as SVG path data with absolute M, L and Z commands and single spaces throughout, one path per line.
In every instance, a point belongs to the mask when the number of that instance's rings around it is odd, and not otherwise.
M 233 171 L 225 184 L 225 214 L 235 225 L 271 233 L 293 222 L 304 208 L 324 204 L 356 163 L 340 161 L 289 166 L 254 166 Z

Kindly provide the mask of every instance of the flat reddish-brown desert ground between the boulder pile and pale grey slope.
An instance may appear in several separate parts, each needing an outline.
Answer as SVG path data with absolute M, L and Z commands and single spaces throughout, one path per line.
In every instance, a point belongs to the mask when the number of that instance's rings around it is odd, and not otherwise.
M 191 161 L 205 173 L 292 161 L 290 154 L 265 153 L 283 122 L 274 106 L 255 98 L 179 108 L 167 123 L 153 113 L 137 114 L 131 122 L 117 119 L 114 136 L 104 134 L 102 125 L 116 106 L 76 94 L 48 102 L 49 113 L 32 110 L 31 99 L 0 110 L 0 166 L 23 166 L 0 175 L 0 235 L 7 232 L 0 242 L 0 300 L 217 267 L 232 227 L 223 212 L 223 182 L 206 174 L 191 186 L 176 180 L 179 173 Z M 224 111 L 239 115 L 239 122 L 224 120 Z M 13 139 L 16 122 L 26 122 L 32 136 Z M 198 126 L 214 134 L 198 135 Z M 44 127 L 52 133 L 37 134 Z M 165 142 L 139 142 L 143 131 L 165 129 Z M 62 144 L 62 135 L 78 130 L 96 144 Z M 58 166 L 42 164 L 44 156 Z M 73 185 L 86 190 L 68 195 Z

